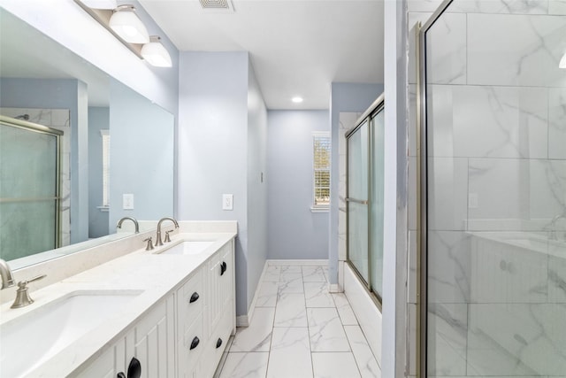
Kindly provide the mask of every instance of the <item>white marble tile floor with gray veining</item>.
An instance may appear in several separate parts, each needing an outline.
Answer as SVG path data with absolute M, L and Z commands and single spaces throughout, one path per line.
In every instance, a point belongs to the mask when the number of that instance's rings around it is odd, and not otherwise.
M 325 266 L 271 265 L 248 328 L 238 328 L 218 378 L 381 378 L 344 294 Z

